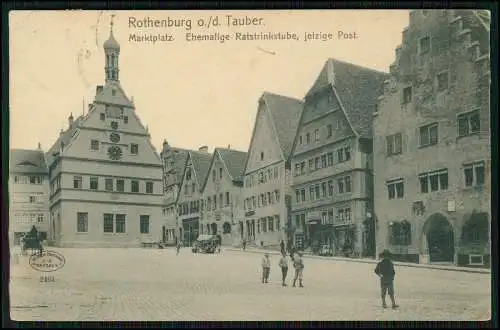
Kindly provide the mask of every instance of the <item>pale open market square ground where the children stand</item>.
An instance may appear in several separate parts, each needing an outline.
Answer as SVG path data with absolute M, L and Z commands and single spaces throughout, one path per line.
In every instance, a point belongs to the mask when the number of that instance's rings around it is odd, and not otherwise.
M 11 318 L 46 321 L 487 320 L 491 275 L 396 267 L 399 310 L 380 306 L 374 265 L 305 259 L 304 288 L 260 282 L 262 255 L 174 249 L 55 249 L 65 266 L 40 283 L 11 266 Z M 291 280 L 291 274 L 289 280 Z M 388 300 L 389 301 L 389 300 Z

